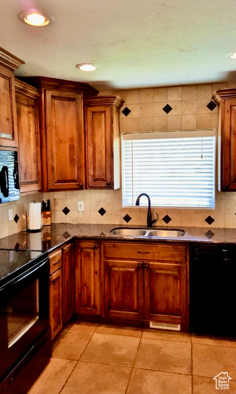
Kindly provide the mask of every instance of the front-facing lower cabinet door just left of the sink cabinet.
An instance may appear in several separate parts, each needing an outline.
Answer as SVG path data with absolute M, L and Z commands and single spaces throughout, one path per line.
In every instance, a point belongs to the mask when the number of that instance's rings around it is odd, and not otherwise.
M 100 314 L 100 252 L 96 242 L 75 244 L 75 312 Z

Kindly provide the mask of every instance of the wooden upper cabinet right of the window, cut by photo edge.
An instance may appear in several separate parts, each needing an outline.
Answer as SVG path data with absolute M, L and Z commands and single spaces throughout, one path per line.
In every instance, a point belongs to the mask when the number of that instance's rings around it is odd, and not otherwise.
M 219 106 L 218 188 L 236 190 L 236 89 L 217 90 L 213 100 Z

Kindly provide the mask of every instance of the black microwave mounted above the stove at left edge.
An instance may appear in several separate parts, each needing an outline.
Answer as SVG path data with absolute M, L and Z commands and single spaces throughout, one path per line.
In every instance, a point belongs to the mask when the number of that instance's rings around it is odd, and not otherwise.
M 19 200 L 18 153 L 0 147 L 0 203 Z

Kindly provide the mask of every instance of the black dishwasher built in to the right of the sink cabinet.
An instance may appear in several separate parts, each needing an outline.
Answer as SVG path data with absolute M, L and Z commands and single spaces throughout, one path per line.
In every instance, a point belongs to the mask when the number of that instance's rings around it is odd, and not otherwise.
M 190 246 L 190 331 L 236 337 L 236 245 Z

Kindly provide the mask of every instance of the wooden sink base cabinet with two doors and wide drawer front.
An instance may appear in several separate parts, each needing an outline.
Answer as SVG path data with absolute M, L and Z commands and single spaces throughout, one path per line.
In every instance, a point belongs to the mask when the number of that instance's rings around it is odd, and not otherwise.
M 181 324 L 181 329 L 183 327 L 186 330 L 188 324 L 187 250 L 187 245 L 106 242 L 104 244 L 105 317 Z M 134 254 L 143 254 L 143 259 L 141 257 L 140 260 L 136 260 L 135 255 L 135 260 L 132 260 L 132 251 Z M 173 251 L 176 252 L 176 261 Z M 123 259 L 120 255 L 123 255 Z M 161 257 L 160 260 L 154 261 L 154 255 Z

